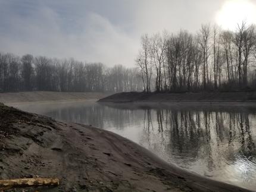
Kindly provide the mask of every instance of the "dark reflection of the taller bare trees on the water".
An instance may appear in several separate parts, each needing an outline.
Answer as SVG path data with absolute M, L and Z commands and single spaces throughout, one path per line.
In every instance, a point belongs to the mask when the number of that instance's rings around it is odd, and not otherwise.
M 201 175 L 256 186 L 255 115 L 171 109 L 144 112 L 143 146 L 168 162 Z

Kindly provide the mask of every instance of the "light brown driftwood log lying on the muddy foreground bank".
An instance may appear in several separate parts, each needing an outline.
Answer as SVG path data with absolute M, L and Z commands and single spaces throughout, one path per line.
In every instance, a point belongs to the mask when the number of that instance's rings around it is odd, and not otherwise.
M 0 180 L 0 190 L 10 190 L 14 188 L 41 187 L 59 185 L 57 178 L 22 178 L 14 180 Z

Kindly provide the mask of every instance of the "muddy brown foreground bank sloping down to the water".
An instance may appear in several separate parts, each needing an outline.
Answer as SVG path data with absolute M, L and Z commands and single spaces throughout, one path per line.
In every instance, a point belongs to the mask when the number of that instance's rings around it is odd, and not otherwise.
M 168 165 L 117 134 L 0 105 L 0 178 L 57 177 L 48 191 L 247 191 Z

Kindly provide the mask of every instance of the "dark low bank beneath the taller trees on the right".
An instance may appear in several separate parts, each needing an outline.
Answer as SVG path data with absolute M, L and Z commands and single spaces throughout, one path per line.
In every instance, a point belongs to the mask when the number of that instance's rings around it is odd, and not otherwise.
M 116 93 L 99 102 L 256 102 L 256 92 Z

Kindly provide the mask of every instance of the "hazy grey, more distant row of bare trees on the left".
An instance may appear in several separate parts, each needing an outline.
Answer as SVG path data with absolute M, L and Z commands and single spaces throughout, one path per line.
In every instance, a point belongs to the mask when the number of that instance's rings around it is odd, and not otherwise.
M 0 92 L 130 92 L 143 90 L 136 68 L 106 67 L 45 56 L 0 53 Z

